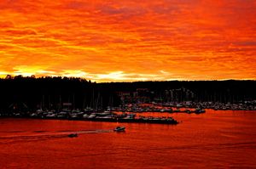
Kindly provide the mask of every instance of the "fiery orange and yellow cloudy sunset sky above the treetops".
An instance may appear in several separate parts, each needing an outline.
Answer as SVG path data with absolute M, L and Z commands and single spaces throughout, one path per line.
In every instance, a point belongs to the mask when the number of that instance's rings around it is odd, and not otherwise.
M 256 79 L 255 0 L 0 0 L 0 76 Z

